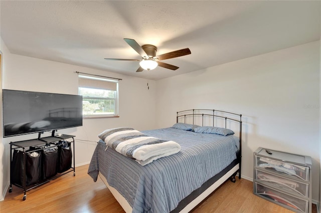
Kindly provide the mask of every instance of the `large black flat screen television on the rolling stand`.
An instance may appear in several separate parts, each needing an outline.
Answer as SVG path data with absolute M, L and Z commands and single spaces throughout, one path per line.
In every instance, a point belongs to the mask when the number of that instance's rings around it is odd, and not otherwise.
M 81 95 L 3 89 L 4 137 L 81 125 Z

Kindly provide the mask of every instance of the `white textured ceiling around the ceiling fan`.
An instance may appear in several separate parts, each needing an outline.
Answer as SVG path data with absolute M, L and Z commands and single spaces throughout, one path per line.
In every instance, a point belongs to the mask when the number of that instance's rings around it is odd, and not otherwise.
M 320 39 L 320 1 L 1 0 L 1 37 L 11 53 L 162 79 Z M 123 38 L 153 44 L 180 68 L 135 72 L 141 57 Z M 17 61 L 19 62 L 19 61 Z

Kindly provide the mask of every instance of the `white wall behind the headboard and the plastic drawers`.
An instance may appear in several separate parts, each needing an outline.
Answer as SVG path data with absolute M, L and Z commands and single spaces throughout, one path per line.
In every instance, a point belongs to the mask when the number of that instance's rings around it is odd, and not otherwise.
M 261 147 L 313 158 L 319 188 L 319 41 L 158 80 L 157 127 L 176 111 L 210 108 L 243 114 L 242 175 L 253 178 Z

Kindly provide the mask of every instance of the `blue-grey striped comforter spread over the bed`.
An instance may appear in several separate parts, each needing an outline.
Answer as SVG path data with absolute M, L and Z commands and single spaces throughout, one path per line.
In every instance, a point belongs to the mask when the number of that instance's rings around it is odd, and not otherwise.
M 192 191 L 236 159 L 237 137 L 196 133 L 176 128 L 143 133 L 181 145 L 181 151 L 145 166 L 108 148 L 101 140 L 94 151 L 88 174 L 98 171 L 118 190 L 133 212 L 170 212 Z

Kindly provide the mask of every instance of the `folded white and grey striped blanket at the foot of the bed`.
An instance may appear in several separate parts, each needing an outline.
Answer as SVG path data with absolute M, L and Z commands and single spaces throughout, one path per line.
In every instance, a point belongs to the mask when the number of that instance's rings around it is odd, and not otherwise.
M 129 127 L 106 129 L 98 137 L 109 147 L 134 158 L 141 165 L 181 150 L 180 144 L 175 141 L 151 137 Z

